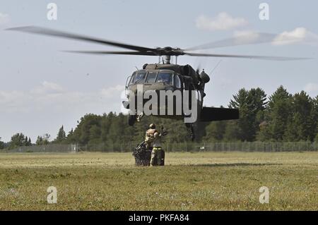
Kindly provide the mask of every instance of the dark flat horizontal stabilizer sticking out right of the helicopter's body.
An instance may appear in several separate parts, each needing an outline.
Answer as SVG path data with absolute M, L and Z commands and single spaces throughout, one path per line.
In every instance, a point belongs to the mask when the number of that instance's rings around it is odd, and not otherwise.
M 240 118 L 238 109 L 203 107 L 200 121 L 226 121 Z

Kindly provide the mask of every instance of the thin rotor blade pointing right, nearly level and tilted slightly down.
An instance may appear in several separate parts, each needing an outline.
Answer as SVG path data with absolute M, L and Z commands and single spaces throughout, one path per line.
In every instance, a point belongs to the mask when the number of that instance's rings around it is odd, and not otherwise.
M 246 55 L 230 55 L 230 54 L 201 54 L 201 53 L 189 53 L 184 52 L 187 56 L 204 56 L 204 57 L 228 57 L 228 58 L 242 58 L 242 59 L 263 59 L 271 61 L 291 61 L 291 60 L 304 60 L 311 58 L 293 58 L 293 57 L 281 57 L 281 56 L 246 56 Z

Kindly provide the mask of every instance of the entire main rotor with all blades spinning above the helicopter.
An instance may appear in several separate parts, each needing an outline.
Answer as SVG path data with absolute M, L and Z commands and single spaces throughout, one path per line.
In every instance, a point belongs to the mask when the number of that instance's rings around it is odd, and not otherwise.
M 287 60 L 300 60 L 300 59 L 309 59 L 309 58 L 290 58 L 290 57 L 279 57 L 279 56 L 242 56 L 242 55 L 228 55 L 228 54 L 196 54 L 185 52 L 183 49 L 164 47 L 164 48 L 148 48 L 141 47 L 131 44 L 124 44 L 119 42 L 113 42 L 105 39 L 98 39 L 95 37 L 88 37 L 84 35 L 76 35 L 69 32 L 62 32 L 59 30 L 52 30 L 48 28 L 41 28 L 37 26 L 27 26 L 27 27 L 19 27 L 19 28 L 9 28 L 7 30 L 16 30 L 19 32 L 28 32 L 38 35 L 48 35 L 54 37 L 64 37 L 68 39 L 76 39 L 85 42 L 93 42 L 97 44 L 106 44 L 113 47 L 121 47 L 124 49 L 130 49 L 134 51 L 73 51 L 78 53 L 86 53 L 86 54 L 124 54 L 124 55 L 141 55 L 141 56 L 207 56 L 207 57 L 231 57 L 231 58 L 245 58 L 245 59 L 265 59 L 265 60 L 278 60 L 278 61 L 287 61 Z M 252 34 L 252 35 L 251 35 Z M 218 42 L 212 42 L 209 44 L 204 44 L 199 47 L 193 47 L 188 50 L 198 50 L 198 49 L 211 49 L 216 47 L 228 47 L 242 44 L 258 44 L 264 42 L 273 41 L 274 37 L 277 35 L 269 34 L 269 33 L 250 33 L 249 35 L 240 35 L 235 38 L 224 39 Z M 293 37 L 288 37 L 290 41 L 294 40 Z

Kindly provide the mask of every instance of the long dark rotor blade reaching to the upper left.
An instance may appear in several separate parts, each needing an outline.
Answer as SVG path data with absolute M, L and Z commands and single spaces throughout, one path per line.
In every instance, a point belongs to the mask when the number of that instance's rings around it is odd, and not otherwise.
M 119 43 L 119 42 L 113 42 L 105 39 L 98 39 L 95 37 L 88 37 L 84 35 L 76 35 L 72 34 L 69 32 L 62 32 L 59 30 L 52 30 L 48 28 L 41 28 L 41 27 L 36 27 L 36 26 L 27 26 L 27 27 L 19 27 L 19 28 L 9 28 L 7 30 L 16 30 L 20 32 L 28 32 L 28 33 L 33 33 L 37 35 L 48 35 L 48 36 L 54 36 L 54 37 L 64 37 L 68 39 L 77 39 L 85 42 L 93 42 L 93 43 L 98 43 L 98 44 L 106 44 L 106 45 L 111 45 L 114 47 L 121 47 L 124 49 L 130 49 L 130 50 L 135 50 L 135 51 L 155 51 L 155 49 L 147 48 L 147 47 L 140 47 L 136 45 L 131 45 L 131 44 L 124 44 L 124 43 Z

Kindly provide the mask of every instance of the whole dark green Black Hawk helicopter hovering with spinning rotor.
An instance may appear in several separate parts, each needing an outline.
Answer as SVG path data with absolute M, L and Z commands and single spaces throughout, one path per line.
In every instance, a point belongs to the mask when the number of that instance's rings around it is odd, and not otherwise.
M 288 60 L 299 60 L 307 58 L 291 58 L 291 57 L 280 57 L 280 56 L 247 56 L 247 55 L 232 55 L 232 54 L 205 54 L 205 53 L 194 53 L 191 51 L 201 50 L 201 49 L 213 49 L 217 47 L 230 47 L 242 44 L 259 44 L 265 42 L 272 42 L 273 38 L 276 37 L 274 34 L 269 33 L 253 33 L 252 35 L 242 35 L 240 37 L 223 39 L 218 42 L 211 42 L 208 44 L 200 45 L 197 47 L 192 47 L 189 49 L 179 49 L 172 47 L 140 47 L 131 44 L 124 44 L 119 42 L 114 42 L 105 39 L 98 39 L 95 37 L 88 37 L 84 35 L 76 35 L 69 32 L 61 32 L 58 30 L 52 30 L 47 28 L 40 28 L 35 26 L 20 27 L 20 28 L 10 28 L 8 30 L 16 30 L 20 32 L 28 32 L 39 35 L 49 35 L 54 37 L 64 37 L 68 39 L 76 39 L 85 42 L 93 42 L 96 44 L 105 44 L 113 47 L 120 47 L 123 49 L 129 49 L 130 51 L 68 51 L 73 53 L 82 54 L 115 54 L 115 55 L 134 55 L 134 56 L 159 56 L 163 57 L 163 63 L 150 63 L 145 64 L 143 69 L 135 71 L 133 75 L 129 76 L 126 81 L 126 90 L 136 94 L 137 86 L 142 85 L 143 92 L 148 90 L 153 90 L 158 92 L 160 90 L 180 90 L 181 93 L 184 91 L 191 91 L 196 95 L 196 109 L 197 109 L 197 119 L 193 123 L 185 123 L 187 128 L 189 128 L 192 140 L 194 139 L 194 126 L 198 121 L 222 121 L 222 120 L 232 120 L 239 118 L 238 109 L 226 109 L 226 108 L 214 108 L 214 107 L 204 107 L 204 97 L 206 93 L 204 88 L 206 83 L 210 81 L 209 75 L 204 71 L 199 73 L 199 69 L 194 70 L 192 66 L 189 65 L 178 65 L 178 56 L 204 56 L 204 57 L 228 57 L 228 58 L 245 58 L 245 59 L 265 59 L 265 60 L 275 60 L 275 61 L 288 61 Z M 289 40 L 293 37 L 289 37 Z M 171 56 L 175 56 L 176 63 L 170 62 Z M 137 95 L 134 95 L 135 98 Z M 129 96 L 127 96 L 129 97 Z M 182 94 L 183 98 L 183 94 Z M 191 99 L 189 97 L 189 99 Z M 136 99 L 135 99 L 136 100 Z M 137 101 L 137 100 L 136 100 Z M 183 101 L 182 101 L 183 102 Z M 123 102 L 124 107 L 129 109 L 129 101 Z M 145 104 L 143 101 L 142 104 Z M 167 107 L 167 105 L 165 106 Z M 173 105 L 175 107 L 175 104 Z M 189 106 L 191 107 L 191 102 Z M 183 108 L 182 108 L 183 109 Z M 132 113 L 131 113 L 132 112 Z M 128 116 L 129 126 L 133 126 L 135 121 L 143 116 L 143 111 L 138 111 L 136 109 L 130 109 L 130 114 Z M 158 114 L 155 116 L 163 116 L 165 118 L 183 119 L 189 115 L 184 114 Z

